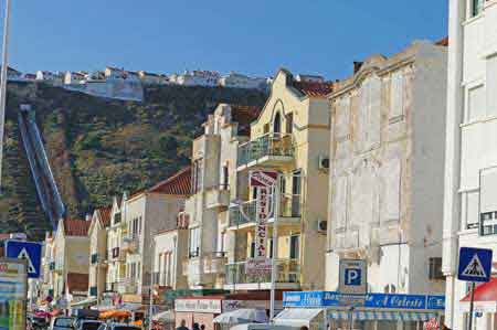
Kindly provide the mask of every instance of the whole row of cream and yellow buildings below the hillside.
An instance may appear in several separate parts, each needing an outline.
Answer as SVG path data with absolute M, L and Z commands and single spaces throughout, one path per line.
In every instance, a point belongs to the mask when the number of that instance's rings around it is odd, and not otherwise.
M 268 308 L 269 277 L 245 272 L 255 169 L 282 174 L 277 242 L 267 241 L 267 251 L 277 244 L 279 299 L 336 290 L 338 260 L 351 257 L 368 260 L 372 292 L 443 294 L 446 57 L 446 44 L 415 42 L 356 63 L 340 82 L 279 70 L 263 108 L 220 104 L 191 167 L 87 221 L 61 221 L 46 241 L 42 296 L 74 304 L 73 278 L 84 274 L 78 300 L 146 305 L 152 288 L 244 294 Z

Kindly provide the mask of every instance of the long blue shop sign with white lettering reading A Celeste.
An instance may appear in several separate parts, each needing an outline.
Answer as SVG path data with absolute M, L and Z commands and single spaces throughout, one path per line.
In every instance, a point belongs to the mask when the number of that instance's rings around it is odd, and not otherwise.
M 283 296 L 283 305 L 285 307 L 339 307 L 343 306 L 341 304 L 342 300 L 342 295 L 329 291 L 284 292 Z M 363 306 L 367 308 L 443 310 L 445 308 L 445 297 L 368 294 Z

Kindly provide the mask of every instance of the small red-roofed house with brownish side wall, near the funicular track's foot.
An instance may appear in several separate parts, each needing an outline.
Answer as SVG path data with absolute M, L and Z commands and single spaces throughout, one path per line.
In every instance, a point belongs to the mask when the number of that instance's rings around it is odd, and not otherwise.
M 61 220 L 53 238 L 53 298 L 83 300 L 88 290 L 89 221 Z

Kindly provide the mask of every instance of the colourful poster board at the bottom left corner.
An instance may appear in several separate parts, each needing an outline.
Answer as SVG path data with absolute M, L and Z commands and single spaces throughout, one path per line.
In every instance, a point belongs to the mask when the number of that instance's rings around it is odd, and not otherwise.
M 27 294 L 25 263 L 0 258 L 0 330 L 25 329 Z

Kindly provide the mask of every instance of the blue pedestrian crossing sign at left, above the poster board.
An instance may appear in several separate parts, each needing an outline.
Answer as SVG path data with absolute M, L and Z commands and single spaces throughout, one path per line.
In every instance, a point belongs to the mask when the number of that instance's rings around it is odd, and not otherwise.
M 28 278 L 40 277 L 42 245 L 33 242 L 6 241 L 6 256 L 8 258 L 28 262 Z

